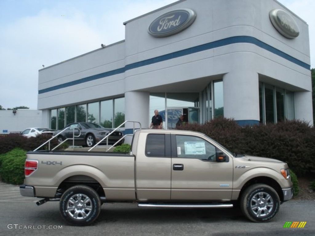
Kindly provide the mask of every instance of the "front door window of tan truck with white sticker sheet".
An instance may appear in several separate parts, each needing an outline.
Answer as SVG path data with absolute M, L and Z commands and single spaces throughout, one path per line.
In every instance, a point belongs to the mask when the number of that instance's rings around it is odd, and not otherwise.
M 206 140 L 188 135 L 176 135 L 177 157 L 215 161 L 216 148 Z

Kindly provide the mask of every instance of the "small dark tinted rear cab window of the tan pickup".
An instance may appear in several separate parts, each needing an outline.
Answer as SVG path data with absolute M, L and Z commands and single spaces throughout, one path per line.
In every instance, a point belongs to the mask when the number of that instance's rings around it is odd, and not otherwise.
M 146 156 L 165 156 L 164 134 L 148 134 L 146 137 Z

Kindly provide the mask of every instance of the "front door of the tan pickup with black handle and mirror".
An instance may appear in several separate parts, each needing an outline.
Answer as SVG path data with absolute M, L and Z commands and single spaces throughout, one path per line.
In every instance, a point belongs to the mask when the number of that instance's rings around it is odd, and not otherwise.
M 172 200 L 230 200 L 233 166 L 216 162 L 222 152 L 206 139 L 172 134 Z

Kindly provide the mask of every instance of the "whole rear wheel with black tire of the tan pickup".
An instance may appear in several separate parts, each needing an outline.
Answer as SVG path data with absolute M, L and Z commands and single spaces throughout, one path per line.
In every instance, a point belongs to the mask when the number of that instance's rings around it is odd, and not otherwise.
M 93 188 L 76 185 L 61 196 L 59 211 L 61 217 L 71 225 L 85 226 L 94 222 L 100 214 L 101 201 Z

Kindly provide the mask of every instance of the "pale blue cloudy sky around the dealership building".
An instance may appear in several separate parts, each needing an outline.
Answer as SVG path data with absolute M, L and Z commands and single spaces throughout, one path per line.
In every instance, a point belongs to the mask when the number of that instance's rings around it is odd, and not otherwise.
M 315 68 L 315 1 L 278 1 L 309 25 L 311 68 Z M 173 2 L 0 0 L 0 105 L 36 110 L 42 65 L 93 51 L 101 43 L 123 40 L 123 22 Z

